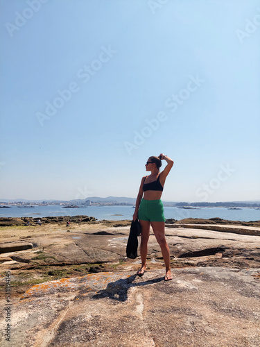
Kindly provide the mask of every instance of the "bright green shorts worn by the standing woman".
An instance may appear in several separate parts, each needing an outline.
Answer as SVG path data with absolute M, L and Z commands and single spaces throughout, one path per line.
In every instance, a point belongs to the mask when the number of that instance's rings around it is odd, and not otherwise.
M 165 221 L 162 200 L 141 200 L 138 219 L 141 221 Z

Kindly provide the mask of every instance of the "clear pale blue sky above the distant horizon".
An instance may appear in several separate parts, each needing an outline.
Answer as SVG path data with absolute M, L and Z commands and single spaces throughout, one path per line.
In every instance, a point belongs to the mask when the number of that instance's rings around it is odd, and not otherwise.
M 0 200 L 259 200 L 259 1 L 0 4 Z

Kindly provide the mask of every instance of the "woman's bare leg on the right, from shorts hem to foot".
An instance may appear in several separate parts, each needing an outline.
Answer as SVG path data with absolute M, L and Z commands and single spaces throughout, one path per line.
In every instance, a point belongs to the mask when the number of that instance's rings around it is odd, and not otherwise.
M 173 276 L 171 275 L 171 258 L 170 250 L 165 239 L 165 223 L 164 221 L 152 221 L 151 222 L 153 232 L 157 239 L 159 246 L 161 247 L 162 256 L 164 258 L 165 264 L 165 280 L 172 280 Z

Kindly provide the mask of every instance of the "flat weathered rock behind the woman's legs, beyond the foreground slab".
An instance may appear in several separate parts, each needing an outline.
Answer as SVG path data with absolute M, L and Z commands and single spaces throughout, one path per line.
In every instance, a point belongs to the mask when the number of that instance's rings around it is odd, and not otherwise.
M 243 234 L 205 230 L 198 226 L 189 228 L 166 227 L 166 239 L 171 251 L 173 266 L 189 264 L 190 266 L 235 266 L 239 268 L 258 267 L 260 263 L 260 237 L 250 234 L 252 227 L 244 227 Z M 216 226 L 213 226 L 214 228 Z M 223 228 L 223 226 L 219 226 Z M 224 228 L 240 228 L 225 226 Z M 257 232 L 260 228 L 253 227 Z M 38 265 L 69 265 L 86 263 L 106 263 L 123 260 L 126 256 L 125 247 L 128 240 L 129 227 L 111 228 L 101 232 L 93 230 L 67 233 L 66 230 L 55 235 L 31 236 L 33 250 L 8 253 L 8 257 L 19 262 L 20 266 Z M 31 255 L 30 255 L 31 252 Z M 19 254 L 18 254 L 19 253 Z M 161 262 L 162 253 L 153 231 L 150 230 L 148 243 L 148 259 Z M 1 260 L 1 255 L 0 255 Z M 0 267 L 3 266 L 0 264 Z M 13 269 L 10 266 L 10 269 Z

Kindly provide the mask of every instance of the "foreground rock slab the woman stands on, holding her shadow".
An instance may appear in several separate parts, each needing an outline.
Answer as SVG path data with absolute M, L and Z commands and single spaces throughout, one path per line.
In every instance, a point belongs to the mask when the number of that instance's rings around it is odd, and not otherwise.
M 95 273 L 35 285 L 1 346 L 260 346 L 260 269 Z M 1 332 L 6 328 L 5 316 Z

